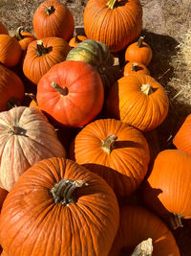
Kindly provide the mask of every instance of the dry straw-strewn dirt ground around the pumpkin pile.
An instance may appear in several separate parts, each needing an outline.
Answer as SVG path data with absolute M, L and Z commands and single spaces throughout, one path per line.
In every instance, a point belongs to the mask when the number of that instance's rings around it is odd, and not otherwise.
M 0 20 L 12 32 L 19 26 L 31 32 L 32 14 L 43 1 L 0 0 Z M 60 1 L 74 14 L 75 26 L 83 26 L 87 0 Z M 172 138 L 184 118 L 191 113 L 191 57 L 183 56 L 182 48 L 190 47 L 191 0 L 140 0 L 143 8 L 145 41 L 153 50 L 148 68 L 159 81 L 170 100 L 166 120 L 157 128 L 160 150 L 172 148 Z M 190 45 L 187 46 L 188 40 Z M 190 62 L 189 62 L 190 61 Z M 191 225 L 190 225 L 191 226 Z M 174 232 L 182 256 L 191 256 L 191 231 L 185 227 Z M 161 255 L 165 256 L 165 255 Z

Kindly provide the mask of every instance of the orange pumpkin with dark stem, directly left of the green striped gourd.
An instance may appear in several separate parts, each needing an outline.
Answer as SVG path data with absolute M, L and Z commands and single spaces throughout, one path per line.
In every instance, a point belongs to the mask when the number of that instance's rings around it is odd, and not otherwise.
M 68 42 L 59 37 L 32 41 L 23 61 L 24 75 L 37 84 L 54 64 L 66 59 L 70 50 Z

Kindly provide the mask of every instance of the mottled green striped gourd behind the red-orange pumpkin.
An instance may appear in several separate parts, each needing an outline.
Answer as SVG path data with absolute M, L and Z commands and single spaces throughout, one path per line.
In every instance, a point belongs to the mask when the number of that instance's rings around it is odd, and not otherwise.
M 117 67 L 114 66 L 114 56 L 106 44 L 93 39 L 86 39 L 74 47 L 67 60 L 85 61 L 96 68 L 101 77 L 105 92 L 119 78 Z

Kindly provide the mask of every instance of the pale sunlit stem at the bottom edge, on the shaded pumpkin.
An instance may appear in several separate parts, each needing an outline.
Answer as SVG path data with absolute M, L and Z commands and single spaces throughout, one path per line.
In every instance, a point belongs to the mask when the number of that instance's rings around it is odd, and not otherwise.
M 153 253 L 153 243 L 152 239 L 148 238 L 147 240 L 142 241 L 135 248 L 131 256 L 151 256 Z

